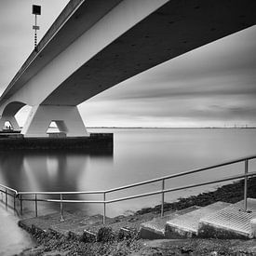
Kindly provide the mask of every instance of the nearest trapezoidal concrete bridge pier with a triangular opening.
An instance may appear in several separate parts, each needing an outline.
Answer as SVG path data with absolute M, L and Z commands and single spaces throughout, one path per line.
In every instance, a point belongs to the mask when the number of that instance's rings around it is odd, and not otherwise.
M 55 122 L 67 137 L 89 136 L 76 106 L 34 106 L 21 130 L 24 137 L 48 137 L 47 128 Z

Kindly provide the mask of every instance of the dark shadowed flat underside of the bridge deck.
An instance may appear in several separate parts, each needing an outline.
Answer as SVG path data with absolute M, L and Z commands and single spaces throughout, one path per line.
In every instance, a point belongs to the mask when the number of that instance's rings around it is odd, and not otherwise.
M 155 65 L 254 25 L 255 12 L 253 1 L 169 1 L 104 47 L 43 104 L 80 104 Z

